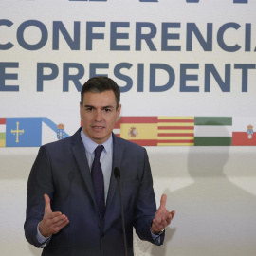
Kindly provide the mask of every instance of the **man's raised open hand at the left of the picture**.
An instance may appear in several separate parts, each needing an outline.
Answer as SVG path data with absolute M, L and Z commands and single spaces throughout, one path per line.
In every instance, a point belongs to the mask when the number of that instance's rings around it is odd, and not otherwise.
M 39 223 L 40 233 L 48 237 L 52 234 L 58 233 L 69 223 L 68 218 L 60 211 L 52 212 L 50 207 L 50 198 L 45 193 L 45 214 L 43 220 Z

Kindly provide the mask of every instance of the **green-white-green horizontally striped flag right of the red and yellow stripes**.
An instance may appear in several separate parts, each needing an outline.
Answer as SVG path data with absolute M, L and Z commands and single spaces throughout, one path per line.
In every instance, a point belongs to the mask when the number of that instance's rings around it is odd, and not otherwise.
M 195 117 L 194 146 L 231 146 L 231 117 Z

